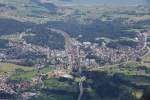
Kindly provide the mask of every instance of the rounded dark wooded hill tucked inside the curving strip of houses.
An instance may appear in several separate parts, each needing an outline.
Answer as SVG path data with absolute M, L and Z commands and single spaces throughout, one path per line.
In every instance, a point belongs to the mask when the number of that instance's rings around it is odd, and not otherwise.
M 45 28 L 37 28 L 32 32 L 36 35 L 25 37 L 27 43 L 50 47 L 52 49 L 64 49 L 65 40 L 62 35 L 50 32 Z

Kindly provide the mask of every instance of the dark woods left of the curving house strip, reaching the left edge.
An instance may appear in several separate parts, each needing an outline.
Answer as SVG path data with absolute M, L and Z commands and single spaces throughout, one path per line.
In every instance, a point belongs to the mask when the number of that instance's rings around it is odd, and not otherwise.
M 25 37 L 27 43 L 50 47 L 51 49 L 64 49 L 64 37 L 48 31 L 42 25 L 19 22 L 12 19 L 0 19 L 0 23 L 0 36 L 14 34 L 16 32 L 26 32 L 30 29 L 30 32 L 36 35 Z M 4 40 L 0 44 L 4 47 Z

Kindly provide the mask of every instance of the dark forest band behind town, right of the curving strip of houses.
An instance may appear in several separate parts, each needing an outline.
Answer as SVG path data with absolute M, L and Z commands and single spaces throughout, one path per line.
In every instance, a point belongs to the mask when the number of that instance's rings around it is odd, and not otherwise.
M 97 37 L 108 37 L 116 39 L 119 37 L 134 38 L 137 34 L 135 32 L 129 32 L 127 30 L 132 29 L 134 26 L 129 24 L 123 24 L 118 20 L 113 21 L 100 21 L 94 20 L 91 24 L 79 24 L 76 21 L 69 22 L 48 22 L 45 26 L 62 29 L 68 32 L 73 37 L 78 37 L 80 41 L 96 42 Z

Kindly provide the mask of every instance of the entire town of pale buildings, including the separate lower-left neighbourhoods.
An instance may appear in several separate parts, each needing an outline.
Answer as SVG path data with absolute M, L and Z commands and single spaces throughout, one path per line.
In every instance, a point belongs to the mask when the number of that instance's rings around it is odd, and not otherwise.
M 106 67 L 106 65 L 122 64 L 129 61 L 141 61 L 142 57 L 150 52 L 147 46 L 150 44 L 147 41 L 150 32 L 137 33 L 136 41 L 138 41 L 138 45 L 135 48 L 122 46 L 114 49 L 107 47 L 105 43 L 103 43 L 101 47 L 90 42 L 81 43 L 71 38 L 62 30 L 50 28 L 49 31 L 57 32 L 65 37 L 65 50 L 52 50 L 49 47 L 28 44 L 23 40 L 23 36 L 28 34 L 23 32 L 19 36 L 23 41 L 9 41 L 9 48 L 0 50 L 0 61 L 3 63 L 25 65 L 27 64 L 27 60 L 24 59 L 22 54 L 30 52 L 34 54 L 31 55 L 33 57 L 32 60 L 34 60 L 34 63 L 31 65 L 34 66 L 34 69 L 40 71 L 40 69 L 48 65 L 55 69 L 52 73 L 48 72 L 49 77 L 73 79 L 73 76 L 69 75 L 67 71 L 75 72 L 79 71 L 80 68 L 94 69 L 102 68 L 103 66 Z M 20 73 L 20 71 L 16 71 L 16 73 Z M 33 77 L 31 81 L 28 80 L 10 85 L 6 84 L 8 82 L 8 75 L 11 74 L 5 73 L 5 75 L 0 76 L 0 91 L 5 91 L 5 93 L 8 93 L 10 96 L 11 94 L 16 94 L 14 91 L 16 89 L 25 90 L 37 83 L 42 84 L 41 87 L 44 87 L 42 79 L 47 76 L 47 74 L 40 73 L 36 77 Z M 81 77 L 79 83 L 80 95 L 83 92 L 82 79 L 84 79 L 84 77 Z M 27 99 L 28 97 L 37 95 L 38 94 L 34 92 L 23 92 L 21 97 Z M 81 98 L 80 95 L 79 98 Z

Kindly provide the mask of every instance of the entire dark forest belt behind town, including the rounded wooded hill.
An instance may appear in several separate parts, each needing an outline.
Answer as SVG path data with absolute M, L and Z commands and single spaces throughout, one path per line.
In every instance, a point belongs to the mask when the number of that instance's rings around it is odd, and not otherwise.
M 48 28 L 57 28 L 66 31 L 70 36 L 78 38 L 80 41 L 90 41 L 101 43 L 101 40 L 96 40 L 97 37 L 107 37 L 110 39 L 118 39 L 120 37 L 134 38 L 136 32 L 131 32 L 131 29 L 143 29 L 144 25 L 149 25 L 150 20 L 140 21 L 134 24 L 125 24 L 122 20 L 101 21 L 93 20 L 89 24 L 79 24 L 75 19 L 69 21 L 50 21 L 46 24 L 33 24 L 30 22 L 19 22 L 11 19 L 0 19 L 0 35 L 13 34 L 31 29 L 36 36 L 26 37 L 28 43 L 33 43 L 41 46 L 49 46 L 54 49 L 64 48 L 64 38 L 60 34 L 49 32 Z M 82 37 L 79 37 L 82 35 Z M 116 44 L 116 43 L 115 43 Z M 119 41 L 119 45 L 134 47 L 132 41 Z M 113 43 L 114 45 L 114 43 Z M 117 43 L 118 45 L 118 43 Z

